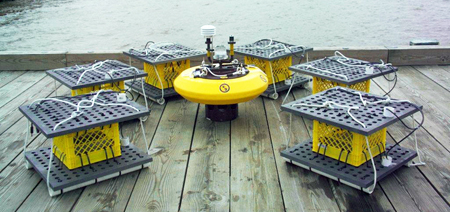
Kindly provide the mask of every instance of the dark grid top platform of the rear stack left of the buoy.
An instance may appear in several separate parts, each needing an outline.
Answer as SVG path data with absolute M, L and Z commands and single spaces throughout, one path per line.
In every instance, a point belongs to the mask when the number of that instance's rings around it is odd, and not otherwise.
M 170 52 L 170 54 L 167 54 L 167 52 Z M 180 44 L 161 45 L 155 49 L 147 49 L 147 51 L 145 49 L 130 49 L 123 53 L 152 65 L 206 56 L 205 51 L 196 50 Z M 156 61 L 157 58 L 158 61 Z

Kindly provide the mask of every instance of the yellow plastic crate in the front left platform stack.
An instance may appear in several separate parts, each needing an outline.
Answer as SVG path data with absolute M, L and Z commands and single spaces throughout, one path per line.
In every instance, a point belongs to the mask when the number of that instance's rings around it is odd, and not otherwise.
M 53 145 L 53 153 L 69 169 L 122 154 L 118 123 L 55 137 Z

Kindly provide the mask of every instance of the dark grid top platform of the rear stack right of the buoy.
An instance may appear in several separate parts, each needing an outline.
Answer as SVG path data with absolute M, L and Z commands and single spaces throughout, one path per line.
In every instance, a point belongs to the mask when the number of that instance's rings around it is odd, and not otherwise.
M 271 45 L 273 47 L 269 47 L 268 45 Z M 284 49 L 284 46 L 294 48 L 291 48 L 291 50 L 287 51 L 278 51 L 280 49 Z M 276 40 L 262 39 L 251 44 L 236 46 L 234 51 L 236 52 L 236 54 L 244 56 L 255 57 L 263 60 L 276 60 L 283 57 L 291 56 L 292 54 L 300 56 L 303 52 L 306 53 L 312 50 L 313 48 L 309 47 L 300 47 L 292 44 L 279 42 Z M 275 51 L 278 52 L 274 53 L 271 57 L 269 57 L 270 54 L 272 54 Z

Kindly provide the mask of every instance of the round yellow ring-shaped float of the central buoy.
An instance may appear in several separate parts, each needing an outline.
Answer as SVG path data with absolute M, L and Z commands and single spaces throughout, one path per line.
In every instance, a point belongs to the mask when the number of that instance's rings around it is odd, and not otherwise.
M 248 74 L 227 78 L 195 77 L 200 66 L 183 71 L 174 82 L 175 91 L 185 99 L 206 105 L 232 105 L 250 101 L 268 86 L 267 76 L 257 67 L 246 67 Z

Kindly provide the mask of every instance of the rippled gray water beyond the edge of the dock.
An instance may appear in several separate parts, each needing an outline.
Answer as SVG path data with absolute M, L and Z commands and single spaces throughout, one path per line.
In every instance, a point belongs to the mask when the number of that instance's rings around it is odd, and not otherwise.
M 147 41 L 204 48 L 272 38 L 306 46 L 450 45 L 449 0 L 16 0 L 0 2 L 0 51 L 127 50 Z

